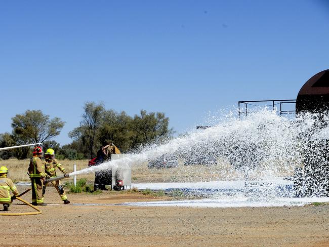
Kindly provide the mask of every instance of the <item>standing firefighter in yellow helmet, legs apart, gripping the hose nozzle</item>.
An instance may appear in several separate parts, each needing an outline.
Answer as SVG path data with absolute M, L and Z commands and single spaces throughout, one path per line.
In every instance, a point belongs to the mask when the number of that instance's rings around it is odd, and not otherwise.
M 55 178 L 57 176 L 56 169 L 59 169 L 64 175 L 67 175 L 65 168 L 62 166 L 61 163 L 55 158 L 55 151 L 54 149 L 48 148 L 45 153 L 45 171 L 47 178 Z M 67 195 L 65 194 L 63 185 L 59 180 L 51 182 L 51 184 L 56 188 L 59 196 L 61 197 L 64 204 L 70 203 L 67 199 Z

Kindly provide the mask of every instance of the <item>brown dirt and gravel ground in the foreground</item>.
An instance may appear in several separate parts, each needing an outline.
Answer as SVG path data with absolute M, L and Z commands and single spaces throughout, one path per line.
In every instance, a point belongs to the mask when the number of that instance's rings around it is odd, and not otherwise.
M 31 193 L 22 198 L 30 201 Z M 0 246 L 329 246 L 329 205 L 131 207 L 106 204 L 163 198 L 109 191 L 68 198 L 71 204 L 62 204 L 50 187 L 42 214 L 0 216 Z M 18 200 L 10 207 L 12 213 L 33 211 Z

